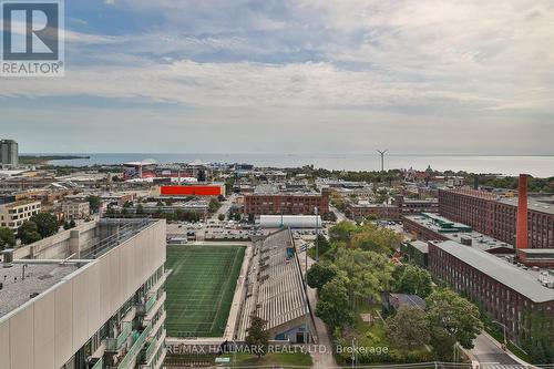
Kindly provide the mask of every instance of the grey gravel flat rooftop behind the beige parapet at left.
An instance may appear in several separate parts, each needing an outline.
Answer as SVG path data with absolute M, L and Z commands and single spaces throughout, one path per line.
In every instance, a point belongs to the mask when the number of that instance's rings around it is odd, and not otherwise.
M 0 317 L 57 285 L 78 268 L 75 264 L 60 263 L 13 264 L 11 267 L 0 264 L 0 283 L 3 285 L 0 289 Z

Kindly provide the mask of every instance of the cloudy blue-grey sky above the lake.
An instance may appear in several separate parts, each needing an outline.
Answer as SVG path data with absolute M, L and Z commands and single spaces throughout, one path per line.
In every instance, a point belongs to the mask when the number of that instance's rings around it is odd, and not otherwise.
M 554 155 L 552 0 L 69 0 L 28 153 Z

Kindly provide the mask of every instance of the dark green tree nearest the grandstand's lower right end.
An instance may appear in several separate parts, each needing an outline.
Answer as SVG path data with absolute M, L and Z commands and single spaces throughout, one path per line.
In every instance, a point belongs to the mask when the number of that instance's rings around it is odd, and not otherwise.
M 327 283 L 319 294 L 316 315 L 331 328 L 343 327 L 352 322 L 348 307 L 348 290 L 343 278 L 336 277 Z

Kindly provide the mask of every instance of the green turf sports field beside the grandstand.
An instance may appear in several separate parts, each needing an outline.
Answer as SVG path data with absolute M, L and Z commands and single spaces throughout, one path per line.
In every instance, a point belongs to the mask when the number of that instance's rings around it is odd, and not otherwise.
M 167 246 L 167 336 L 223 336 L 244 254 L 244 246 Z

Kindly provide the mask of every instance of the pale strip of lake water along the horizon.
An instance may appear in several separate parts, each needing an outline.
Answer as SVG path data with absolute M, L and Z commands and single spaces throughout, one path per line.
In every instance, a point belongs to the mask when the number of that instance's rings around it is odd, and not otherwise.
M 40 154 L 37 154 L 40 155 Z M 45 155 L 45 154 L 44 154 Z M 86 166 L 93 164 L 122 164 L 153 158 L 158 163 L 249 163 L 256 166 L 297 167 L 312 164 L 315 167 L 345 171 L 377 171 L 379 154 L 75 154 L 90 160 L 52 161 L 55 165 Z M 554 176 L 554 156 L 471 156 L 471 155 L 400 155 L 386 156 L 384 168 L 466 171 L 517 175 L 527 173 L 537 177 Z

